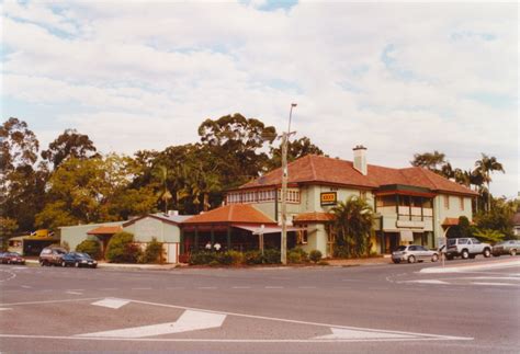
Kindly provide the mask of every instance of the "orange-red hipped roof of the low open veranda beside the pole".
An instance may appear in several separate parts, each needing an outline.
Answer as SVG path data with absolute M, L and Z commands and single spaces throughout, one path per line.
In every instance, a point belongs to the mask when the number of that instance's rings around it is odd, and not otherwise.
M 249 204 L 228 204 L 219 208 L 195 215 L 182 224 L 275 224 L 265 214 Z

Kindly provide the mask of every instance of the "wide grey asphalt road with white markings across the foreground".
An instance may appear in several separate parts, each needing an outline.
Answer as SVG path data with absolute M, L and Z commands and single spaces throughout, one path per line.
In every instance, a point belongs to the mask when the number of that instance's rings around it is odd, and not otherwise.
M 448 262 L 484 265 L 456 273 L 2 265 L 0 351 L 518 353 L 519 261 Z

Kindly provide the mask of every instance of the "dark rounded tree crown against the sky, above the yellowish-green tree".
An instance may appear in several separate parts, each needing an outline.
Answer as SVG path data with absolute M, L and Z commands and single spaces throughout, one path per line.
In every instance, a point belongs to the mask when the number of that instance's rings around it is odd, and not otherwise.
M 42 158 L 53 163 L 56 169 L 68 158 L 86 159 L 99 157 L 97 149 L 88 135 L 79 134 L 76 129 L 66 129 L 48 149 L 42 151 Z

